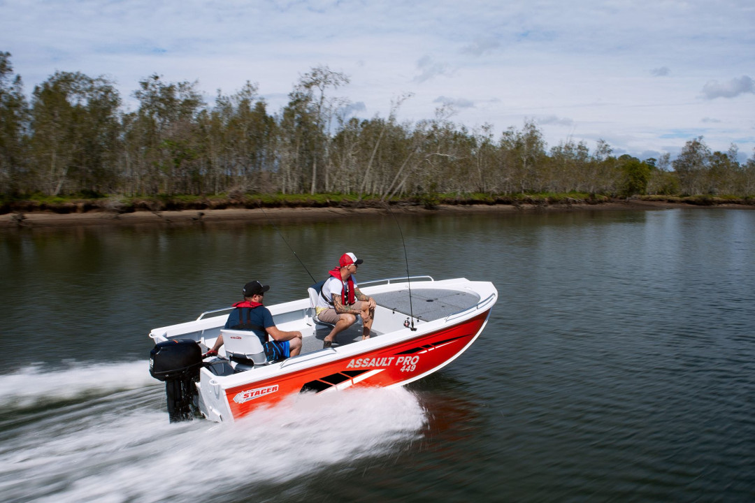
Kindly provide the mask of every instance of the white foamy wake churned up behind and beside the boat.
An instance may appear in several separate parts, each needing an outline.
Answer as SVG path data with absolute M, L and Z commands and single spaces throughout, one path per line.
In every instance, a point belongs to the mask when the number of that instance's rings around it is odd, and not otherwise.
M 0 376 L 0 406 L 6 501 L 222 500 L 405 448 L 426 422 L 417 398 L 396 388 L 299 395 L 233 424 L 171 425 L 143 362 Z

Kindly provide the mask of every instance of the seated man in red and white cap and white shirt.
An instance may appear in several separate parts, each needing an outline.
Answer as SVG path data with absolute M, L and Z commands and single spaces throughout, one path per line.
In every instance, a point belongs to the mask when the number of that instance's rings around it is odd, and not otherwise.
M 356 286 L 354 275 L 362 262 L 353 253 L 344 253 L 338 267 L 328 271 L 331 277 L 322 285 L 315 307 L 320 321 L 334 325 L 322 341 L 323 348 L 330 348 L 337 334 L 356 323 L 358 316 L 362 317 L 362 340 L 369 339 L 377 304 Z

